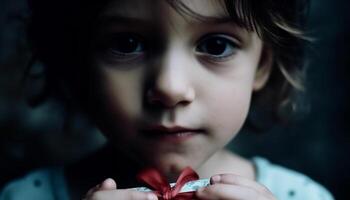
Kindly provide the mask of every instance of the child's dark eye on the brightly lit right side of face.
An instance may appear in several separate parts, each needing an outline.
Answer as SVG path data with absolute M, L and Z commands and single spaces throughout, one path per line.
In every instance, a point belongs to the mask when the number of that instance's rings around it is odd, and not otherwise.
M 225 35 L 210 35 L 202 39 L 196 51 L 213 59 L 227 58 L 236 53 L 238 45 Z

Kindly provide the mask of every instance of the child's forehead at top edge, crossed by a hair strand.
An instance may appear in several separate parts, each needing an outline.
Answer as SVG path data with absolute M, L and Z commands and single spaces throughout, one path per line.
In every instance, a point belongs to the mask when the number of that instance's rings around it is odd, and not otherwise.
M 228 16 L 223 0 L 182 0 L 180 3 L 199 16 L 211 18 Z M 102 15 L 161 19 L 175 11 L 170 4 L 167 0 L 112 0 Z

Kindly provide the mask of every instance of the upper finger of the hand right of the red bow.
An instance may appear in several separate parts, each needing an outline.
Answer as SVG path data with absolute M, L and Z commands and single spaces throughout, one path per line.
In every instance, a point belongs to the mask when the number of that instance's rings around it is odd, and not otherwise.
M 230 184 L 230 185 L 240 185 L 244 187 L 254 188 L 255 190 L 263 193 L 271 193 L 267 187 L 259 184 L 258 182 L 245 178 L 243 176 L 235 175 L 235 174 L 219 174 L 212 176 L 210 178 L 210 183 L 217 184 Z

